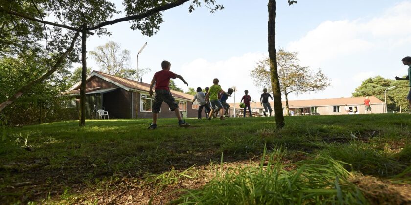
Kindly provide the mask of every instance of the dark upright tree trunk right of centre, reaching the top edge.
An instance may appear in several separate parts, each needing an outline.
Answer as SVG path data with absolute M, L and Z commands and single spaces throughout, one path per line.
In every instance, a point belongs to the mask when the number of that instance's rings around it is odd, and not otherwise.
M 284 127 L 284 115 L 281 103 L 280 81 L 277 71 L 277 56 L 275 49 L 275 10 L 276 1 L 268 1 L 268 53 L 270 57 L 270 77 L 273 88 L 275 124 L 277 128 Z

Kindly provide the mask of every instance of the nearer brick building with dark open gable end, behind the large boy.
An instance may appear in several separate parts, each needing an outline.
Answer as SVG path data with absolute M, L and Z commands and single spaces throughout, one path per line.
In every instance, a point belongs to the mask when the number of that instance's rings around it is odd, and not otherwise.
M 77 104 L 80 102 L 80 84 L 76 83 L 68 92 L 76 98 Z M 110 118 L 136 118 L 136 109 L 138 118 L 152 118 L 154 96 L 149 95 L 149 88 L 150 84 L 138 82 L 136 90 L 134 80 L 93 71 L 86 81 L 86 118 L 96 117 L 92 115 L 94 107 L 108 111 Z M 197 117 L 198 103 L 192 104 L 192 95 L 173 90 L 171 93 L 179 103 L 183 117 Z M 136 107 L 137 98 L 139 104 Z M 175 117 L 174 112 L 163 102 L 159 118 L 172 117 Z

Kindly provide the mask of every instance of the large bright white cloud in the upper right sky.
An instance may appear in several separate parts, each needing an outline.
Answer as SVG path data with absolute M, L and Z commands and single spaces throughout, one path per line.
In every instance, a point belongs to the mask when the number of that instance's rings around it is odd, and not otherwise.
M 325 21 L 287 49 L 301 62 L 318 67 L 324 61 L 411 42 L 411 2 L 402 2 L 369 20 Z

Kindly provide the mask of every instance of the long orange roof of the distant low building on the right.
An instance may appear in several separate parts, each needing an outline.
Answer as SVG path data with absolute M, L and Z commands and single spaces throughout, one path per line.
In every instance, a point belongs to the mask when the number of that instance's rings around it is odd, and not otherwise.
M 353 97 L 353 98 L 326 98 L 326 99 L 311 99 L 311 100 L 293 100 L 288 101 L 290 108 L 302 108 L 302 107 L 321 107 L 321 106 L 344 106 L 347 105 L 364 105 L 365 97 Z M 369 100 L 371 104 L 384 104 L 380 99 L 375 96 L 370 96 Z M 250 102 L 251 107 L 254 107 L 254 102 Z M 270 102 L 271 106 L 274 106 L 274 102 Z M 230 103 L 234 106 L 234 103 Z M 262 108 L 260 102 L 255 102 L 255 108 Z M 282 107 L 285 107 L 285 101 L 282 101 Z M 240 109 L 240 104 L 236 103 L 235 108 Z

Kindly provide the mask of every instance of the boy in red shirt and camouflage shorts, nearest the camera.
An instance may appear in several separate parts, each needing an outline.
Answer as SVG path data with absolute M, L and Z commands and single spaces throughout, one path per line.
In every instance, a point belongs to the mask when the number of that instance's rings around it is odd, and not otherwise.
M 188 83 L 185 82 L 184 78 L 180 75 L 177 75 L 170 71 L 171 63 L 168 61 L 161 62 L 161 71 L 158 71 L 154 74 L 153 80 L 151 80 L 150 84 L 150 96 L 153 96 L 153 86 L 156 83 L 156 94 L 154 95 L 154 103 L 151 107 L 153 112 L 153 123 L 150 124 L 148 129 L 156 129 L 157 128 L 157 115 L 160 112 L 161 104 L 164 101 L 170 107 L 171 111 L 176 113 L 177 119 L 179 119 L 179 126 L 181 127 L 188 127 L 190 124 L 186 123 L 181 119 L 179 105 L 176 102 L 176 99 L 171 95 L 170 88 L 168 85 L 170 84 L 170 78 L 176 79 L 179 78 L 188 86 Z

